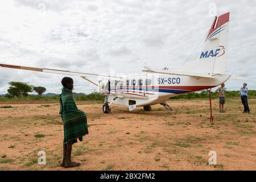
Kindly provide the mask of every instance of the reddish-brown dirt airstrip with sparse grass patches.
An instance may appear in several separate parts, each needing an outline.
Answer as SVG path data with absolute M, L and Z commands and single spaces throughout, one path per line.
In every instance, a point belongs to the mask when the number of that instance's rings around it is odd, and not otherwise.
M 213 100 L 214 125 L 208 100 L 168 104 L 173 111 L 155 105 L 130 113 L 112 105 L 112 113 L 103 114 L 101 103 L 78 102 L 89 135 L 73 146 L 72 158 L 81 166 L 69 169 L 59 166 L 63 125 L 57 102 L 0 104 L 0 170 L 256 169 L 256 100 L 249 100 L 250 114 L 241 112 L 239 98 L 226 101 L 226 113 L 218 113 Z M 38 151 L 46 152 L 46 165 L 38 164 Z M 216 151 L 216 165 L 208 164 L 209 151 Z

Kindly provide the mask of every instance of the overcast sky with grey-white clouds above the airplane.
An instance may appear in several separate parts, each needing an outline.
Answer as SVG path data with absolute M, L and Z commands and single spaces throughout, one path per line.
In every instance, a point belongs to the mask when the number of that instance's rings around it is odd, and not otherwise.
M 0 63 L 101 74 L 180 67 L 200 50 L 214 6 L 217 15 L 230 11 L 227 73 L 245 78 L 226 87 L 238 90 L 246 81 L 256 89 L 256 1 L 249 0 L 1 0 Z M 0 94 L 10 81 L 60 93 L 62 77 L 0 68 Z M 96 89 L 73 79 L 75 92 Z

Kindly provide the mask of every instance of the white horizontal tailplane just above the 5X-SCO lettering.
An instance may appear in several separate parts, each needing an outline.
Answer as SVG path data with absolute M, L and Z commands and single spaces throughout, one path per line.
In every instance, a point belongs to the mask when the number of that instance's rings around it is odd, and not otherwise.
M 144 67 L 146 70 L 142 70 L 143 72 L 148 73 L 160 73 L 160 74 L 167 74 L 167 75 L 179 75 L 179 76 L 192 76 L 192 77 L 202 77 L 202 78 L 214 78 L 213 75 L 209 75 L 207 73 L 190 73 L 190 72 L 168 72 L 168 71 L 154 71 L 151 68 Z

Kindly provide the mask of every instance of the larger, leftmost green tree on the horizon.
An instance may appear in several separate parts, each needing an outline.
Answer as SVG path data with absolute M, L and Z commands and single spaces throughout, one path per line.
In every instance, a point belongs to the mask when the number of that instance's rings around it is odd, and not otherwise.
M 11 86 L 9 87 L 7 92 L 10 94 L 11 97 L 27 97 L 28 92 L 32 92 L 32 86 L 24 82 L 11 81 L 9 82 L 9 85 Z

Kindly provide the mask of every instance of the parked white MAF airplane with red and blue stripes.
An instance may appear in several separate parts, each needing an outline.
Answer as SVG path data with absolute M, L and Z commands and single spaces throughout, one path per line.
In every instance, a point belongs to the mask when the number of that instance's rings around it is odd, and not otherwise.
M 150 111 L 151 106 L 155 104 L 172 110 L 166 102 L 171 97 L 211 89 L 230 78 L 230 75 L 225 74 L 228 30 L 229 13 L 215 16 L 198 58 L 175 71 L 167 67 L 160 70 L 144 67 L 143 74 L 121 77 L 7 64 L 0 64 L 0 67 L 80 76 L 100 88 L 105 97 L 103 113 L 110 113 L 112 104 L 127 106 L 130 111 L 138 106 Z M 98 77 L 98 82 L 88 78 L 93 76 Z

